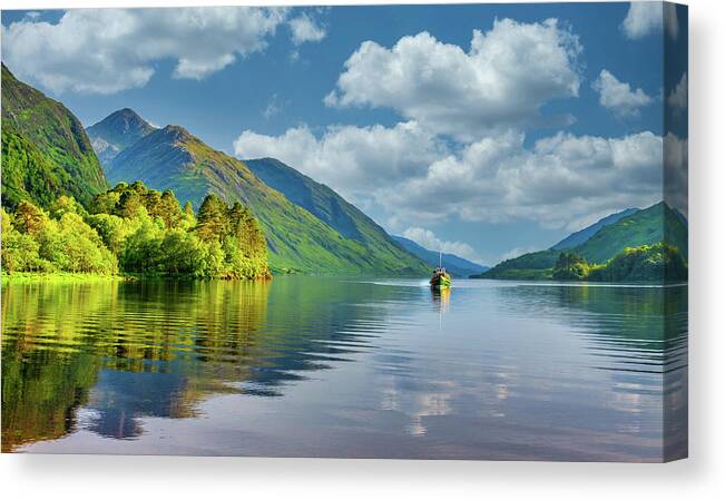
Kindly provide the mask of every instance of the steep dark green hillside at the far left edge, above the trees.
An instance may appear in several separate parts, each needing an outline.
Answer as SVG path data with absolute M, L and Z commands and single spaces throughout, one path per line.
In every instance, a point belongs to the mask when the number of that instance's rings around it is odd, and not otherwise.
M 106 189 L 80 120 L 2 65 L 2 205 L 47 207 L 60 195 L 86 205 Z

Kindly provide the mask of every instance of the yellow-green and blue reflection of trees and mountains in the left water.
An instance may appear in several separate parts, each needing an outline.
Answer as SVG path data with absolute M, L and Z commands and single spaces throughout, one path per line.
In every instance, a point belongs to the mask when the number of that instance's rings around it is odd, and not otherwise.
M 3 287 L 3 451 L 74 431 L 80 406 L 90 415 L 87 430 L 127 439 L 143 432 L 141 418 L 195 416 L 208 394 L 281 395 L 304 372 L 369 344 L 355 333 L 366 314 L 354 306 L 355 288 L 330 286 L 278 280 Z

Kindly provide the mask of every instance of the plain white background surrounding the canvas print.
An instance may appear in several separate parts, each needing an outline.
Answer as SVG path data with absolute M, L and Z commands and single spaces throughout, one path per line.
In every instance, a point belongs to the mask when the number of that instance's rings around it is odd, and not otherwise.
M 98 0 L 0 0 L 0 8 L 100 7 L 99 3 Z M 124 0 L 102 6 L 259 3 L 265 2 Z M 385 2 L 280 0 L 268 3 Z M 52 500 L 725 498 L 725 158 L 719 149 L 725 144 L 722 56 L 725 48 L 725 2 L 690 0 L 688 3 L 690 459 L 660 465 L 3 454 L 0 457 L 0 494 L 8 499 Z

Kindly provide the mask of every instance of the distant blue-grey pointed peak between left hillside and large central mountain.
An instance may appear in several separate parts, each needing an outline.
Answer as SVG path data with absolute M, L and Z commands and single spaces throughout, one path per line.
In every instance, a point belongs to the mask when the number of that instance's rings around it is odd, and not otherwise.
M 156 130 L 133 109 L 124 108 L 108 115 L 86 129 L 101 165 L 109 165 L 120 151 Z

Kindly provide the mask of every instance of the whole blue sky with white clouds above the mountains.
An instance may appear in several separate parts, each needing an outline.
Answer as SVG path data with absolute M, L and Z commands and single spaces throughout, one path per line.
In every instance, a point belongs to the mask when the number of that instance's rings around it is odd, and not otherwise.
M 129 107 L 278 158 L 489 265 L 663 196 L 687 214 L 686 43 L 657 2 L 2 12 L 3 62 L 86 126 Z

